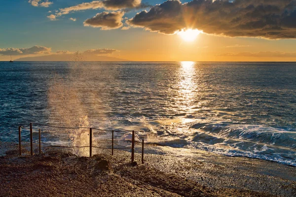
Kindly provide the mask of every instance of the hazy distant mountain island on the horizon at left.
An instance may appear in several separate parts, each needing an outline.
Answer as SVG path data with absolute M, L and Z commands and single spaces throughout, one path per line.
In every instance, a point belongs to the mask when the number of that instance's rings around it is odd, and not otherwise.
M 67 61 L 106 61 L 106 62 L 129 62 L 130 60 L 96 55 L 74 55 L 74 54 L 54 54 L 38 57 L 19 58 L 14 61 L 23 62 L 67 62 Z

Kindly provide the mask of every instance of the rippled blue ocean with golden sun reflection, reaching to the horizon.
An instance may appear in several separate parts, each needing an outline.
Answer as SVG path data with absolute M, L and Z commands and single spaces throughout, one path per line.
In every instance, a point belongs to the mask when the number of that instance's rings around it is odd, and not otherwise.
M 0 62 L 0 141 L 30 122 L 296 166 L 296 63 Z

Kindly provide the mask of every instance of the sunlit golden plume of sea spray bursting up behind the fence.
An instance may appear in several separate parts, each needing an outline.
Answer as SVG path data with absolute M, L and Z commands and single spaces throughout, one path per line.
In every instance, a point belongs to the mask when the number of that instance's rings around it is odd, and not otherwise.
M 48 103 L 50 108 L 51 122 L 63 127 L 83 127 L 90 128 L 92 124 L 88 118 L 88 110 L 96 108 L 102 104 L 98 95 L 89 94 L 88 97 L 83 93 L 83 83 L 79 83 L 82 74 L 87 74 L 87 70 L 83 69 L 81 61 L 83 56 L 75 53 L 75 63 L 69 63 L 72 68 L 67 78 L 54 74 L 48 89 Z M 80 72 L 77 68 L 81 68 Z M 86 100 L 85 100 L 86 99 Z M 87 106 L 85 105 L 87 103 Z M 97 114 L 102 112 L 96 112 Z M 102 115 L 103 116 L 103 115 Z M 61 134 L 66 134 L 72 141 L 73 152 L 79 156 L 89 156 L 89 129 L 63 129 Z M 86 147 L 85 147 L 86 146 Z M 93 146 L 97 146 L 97 142 L 93 140 Z M 80 147 L 80 148 L 79 148 Z M 95 154 L 95 150 L 93 150 Z

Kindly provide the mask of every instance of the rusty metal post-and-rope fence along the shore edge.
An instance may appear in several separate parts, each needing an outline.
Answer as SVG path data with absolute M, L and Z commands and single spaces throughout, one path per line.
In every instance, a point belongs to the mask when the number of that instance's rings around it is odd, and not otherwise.
M 49 127 L 49 128 L 59 128 L 59 129 L 89 129 L 89 146 L 64 146 L 65 144 L 49 144 L 49 143 L 44 143 L 41 142 L 41 130 L 38 129 L 38 136 L 39 140 L 35 141 L 33 140 L 33 124 L 38 125 L 38 126 L 43 126 L 43 127 Z M 23 127 L 19 126 L 19 154 L 22 155 L 22 128 L 27 128 L 30 126 L 30 152 L 31 155 L 33 156 L 33 142 L 37 142 L 39 145 L 39 154 L 41 154 L 41 144 L 48 145 L 51 147 L 59 147 L 59 148 L 86 148 L 89 147 L 89 157 L 92 157 L 92 148 L 99 148 L 99 149 L 110 149 L 110 148 L 105 148 L 105 147 L 98 147 L 98 146 L 93 146 L 93 130 L 97 131 L 106 131 L 106 132 L 112 132 L 112 141 L 111 141 L 111 154 L 114 154 L 114 149 L 130 149 L 131 148 L 131 161 L 134 162 L 135 160 L 135 131 L 114 131 L 114 130 L 102 130 L 102 129 L 97 129 L 97 128 L 87 128 L 87 127 L 57 127 L 57 126 L 49 126 L 49 125 L 43 125 L 39 123 L 30 123 L 28 126 Z M 132 132 L 132 146 L 127 148 L 114 148 L 114 132 Z M 140 139 L 142 141 L 142 164 L 144 164 L 144 139 Z M 119 145 L 119 144 L 116 144 Z

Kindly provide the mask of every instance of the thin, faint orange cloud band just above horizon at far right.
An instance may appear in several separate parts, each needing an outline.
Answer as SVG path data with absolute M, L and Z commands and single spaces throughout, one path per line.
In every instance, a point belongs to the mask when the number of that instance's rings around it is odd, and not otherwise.
M 256 57 L 256 58 L 296 58 L 296 52 L 287 53 L 279 51 L 265 51 L 265 52 L 242 52 L 242 53 L 222 53 L 217 56 L 231 56 L 231 57 Z

